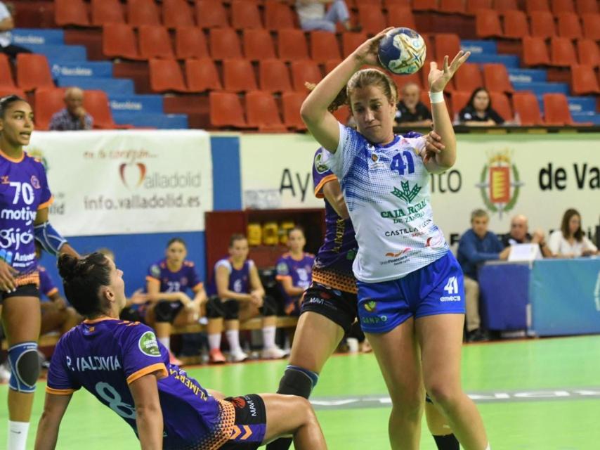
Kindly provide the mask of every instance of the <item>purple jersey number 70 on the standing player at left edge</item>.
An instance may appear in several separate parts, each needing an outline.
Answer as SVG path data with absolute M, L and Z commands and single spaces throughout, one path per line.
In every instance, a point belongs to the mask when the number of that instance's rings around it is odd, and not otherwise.
M 41 162 L 23 152 L 20 160 L 0 150 L 0 258 L 20 274 L 37 267 L 33 223 L 52 203 Z

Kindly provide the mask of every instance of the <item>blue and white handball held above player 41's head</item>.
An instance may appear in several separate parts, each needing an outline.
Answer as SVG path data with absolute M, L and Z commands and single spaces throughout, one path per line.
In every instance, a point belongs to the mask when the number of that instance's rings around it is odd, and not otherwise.
M 379 62 L 396 75 L 410 75 L 422 68 L 426 46 L 421 34 L 410 28 L 394 28 L 379 41 Z

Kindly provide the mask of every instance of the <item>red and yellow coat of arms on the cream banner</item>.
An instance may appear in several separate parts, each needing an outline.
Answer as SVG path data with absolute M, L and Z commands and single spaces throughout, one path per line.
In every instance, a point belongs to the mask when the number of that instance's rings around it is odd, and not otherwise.
M 510 150 L 504 149 L 490 155 L 476 186 L 481 192 L 485 207 L 502 217 L 502 214 L 516 205 L 523 184 L 519 179 L 519 170 L 511 161 Z

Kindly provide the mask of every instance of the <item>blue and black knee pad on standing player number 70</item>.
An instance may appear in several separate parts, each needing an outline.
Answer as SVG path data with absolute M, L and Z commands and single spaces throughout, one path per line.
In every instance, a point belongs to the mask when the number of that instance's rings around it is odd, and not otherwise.
M 9 386 L 17 392 L 35 392 L 35 383 L 41 369 L 37 356 L 37 342 L 21 342 L 8 349 L 11 363 Z

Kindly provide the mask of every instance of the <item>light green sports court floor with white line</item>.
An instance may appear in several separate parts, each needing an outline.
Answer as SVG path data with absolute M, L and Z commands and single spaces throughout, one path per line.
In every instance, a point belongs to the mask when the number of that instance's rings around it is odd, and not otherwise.
M 600 336 L 466 345 L 463 384 L 483 415 L 494 450 L 600 449 Z M 285 361 L 198 366 L 188 373 L 226 394 L 273 392 Z M 40 382 L 28 449 L 44 401 Z M 0 405 L 6 405 L 6 385 Z M 390 404 L 372 354 L 334 356 L 313 392 L 330 449 L 388 449 Z M 0 408 L 0 449 L 6 407 Z M 139 448 L 135 435 L 91 394 L 74 394 L 58 449 Z M 423 426 L 422 449 L 436 449 Z

